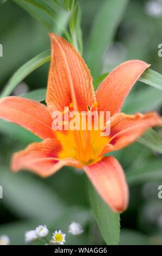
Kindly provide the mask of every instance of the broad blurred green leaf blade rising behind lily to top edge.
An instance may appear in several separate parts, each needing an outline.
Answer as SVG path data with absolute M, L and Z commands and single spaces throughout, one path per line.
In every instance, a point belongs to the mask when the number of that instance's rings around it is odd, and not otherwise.
M 101 74 L 104 53 L 113 41 L 127 3 L 128 0 L 105 0 L 98 10 L 85 54 L 94 78 Z

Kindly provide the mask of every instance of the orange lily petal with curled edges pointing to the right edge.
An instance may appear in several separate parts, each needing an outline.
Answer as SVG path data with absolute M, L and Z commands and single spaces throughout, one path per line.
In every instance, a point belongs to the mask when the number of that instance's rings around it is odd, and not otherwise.
M 162 119 L 155 112 L 127 115 L 117 113 L 110 119 L 110 139 L 100 155 L 119 150 L 136 141 L 146 130 L 162 125 Z

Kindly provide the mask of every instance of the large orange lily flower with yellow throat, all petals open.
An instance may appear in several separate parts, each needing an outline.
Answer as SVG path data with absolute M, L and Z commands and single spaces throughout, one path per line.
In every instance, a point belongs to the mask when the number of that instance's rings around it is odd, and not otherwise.
M 101 197 L 111 209 L 121 212 L 127 208 L 128 187 L 120 163 L 113 156 L 104 156 L 133 143 L 149 127 L 162 125 L 155 112 L 127 115 L 120 113 L 124 99 L 134 83 L 149 65 L 130 60 L 117 66 L 98 87 L 84 60 L 73 46 L 61 36 L 50 34 L 52 59 L 49 69 L 46 103 L 17 96 L 0 101 L 0 117 L 23 126 L 43 139 L 15 153 L 11 169 L 29 169 L 46 177 L 63 166 L 84 169 Z M 110 135 L 99 131 L 54 131 L 52 113 L 64 107 L 87 111 L 110 111 Z M 90 107 L 89 107 L 90 108 Z M 105 120 L 106 121 L 106 120 Z

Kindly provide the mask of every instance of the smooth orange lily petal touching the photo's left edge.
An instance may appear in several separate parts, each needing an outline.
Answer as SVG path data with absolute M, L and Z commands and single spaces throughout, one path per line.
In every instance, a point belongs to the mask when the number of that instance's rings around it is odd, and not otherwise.
M 42 139 L 54 138 L 52 118 L 45 105 L 17 96 L 0 100 L 0 118 L 23 126 Z

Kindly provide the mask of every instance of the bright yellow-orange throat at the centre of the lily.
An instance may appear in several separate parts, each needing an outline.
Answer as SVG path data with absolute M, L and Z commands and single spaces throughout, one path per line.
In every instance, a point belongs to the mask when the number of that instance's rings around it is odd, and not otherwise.
M 88 106 L 89 110 L 89 106 Z M 80 113 L 80 118 L 82 113 Z M 60 159 L 72 157 L 78 160 L 82 165 L 89 165 L 100 159 L 98 156 L 101 153 L 104 145 L 108 143 L 108 137 L 101 135 L 101 130 L 87 128 L 83 130 L 57 131 L 57 137 L 61 142 L 63 149 L 59 153 Z

